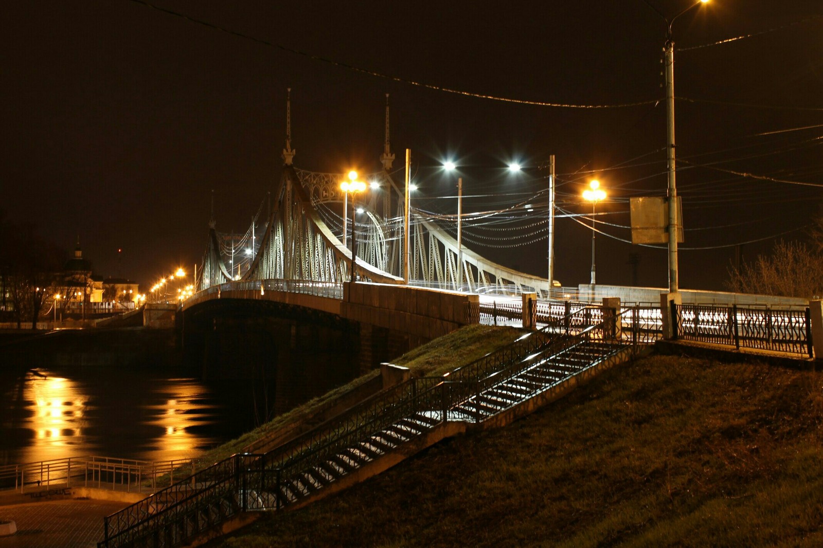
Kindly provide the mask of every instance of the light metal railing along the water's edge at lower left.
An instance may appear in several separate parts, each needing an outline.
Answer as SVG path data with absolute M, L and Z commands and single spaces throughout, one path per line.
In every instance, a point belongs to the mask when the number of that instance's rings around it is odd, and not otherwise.
M 190 476 L 190 459 L 149 462 L 111 457 L 68 457 L 0 467 L 0 493 L 40 492 L 91 487 L 128 493 L 152 493 Z

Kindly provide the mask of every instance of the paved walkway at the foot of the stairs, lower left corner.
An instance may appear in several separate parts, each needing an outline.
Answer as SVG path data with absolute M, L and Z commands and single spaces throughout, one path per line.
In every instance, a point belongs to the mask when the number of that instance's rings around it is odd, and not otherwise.
M 128 506 L 108 500 L 61 499 L 0 506 L 0 520 L 17 532 L 0 536 L 0 548 L 92 548 L 103 539 L 103 518 Z

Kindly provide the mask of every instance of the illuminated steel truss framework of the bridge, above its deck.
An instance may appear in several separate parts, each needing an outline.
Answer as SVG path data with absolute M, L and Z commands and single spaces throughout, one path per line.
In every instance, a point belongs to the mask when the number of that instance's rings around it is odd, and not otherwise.
M 345 195 L 342 174 L 283 166 L 271 194 L 269 213 L 260 212 L 244 235 L 227 235 L 210 223 L 197 290 L 228 281 L 287 280 L 341 283 L 351 278 L 351 249 L 342 241 Z M 466 292 L 534 292 L 548 298 L 551 282 L 483 258 L 458 242 L 437 221 L 412 209 L 409 272 L 404 276 L 404 192 L 388 170 L 370 174 L 372 191 L 358 201 L 365 221 L 357 239 L 356 277 L 360 281 L 430 286 Z M 262 210 L 262 207 L 261 207 Z M 258 232 L 262 229 L 262 237 Z M 351 235 L 352 227 L 348 227 Z M 463 268 L 458 268 L 462 260 Z M 460 273 L 462 273 L 462 276 Z

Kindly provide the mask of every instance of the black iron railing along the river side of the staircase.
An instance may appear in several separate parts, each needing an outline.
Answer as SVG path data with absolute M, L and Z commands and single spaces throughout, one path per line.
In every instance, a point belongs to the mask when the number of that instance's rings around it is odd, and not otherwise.
M 584 310 L 579 313 L 585 313 Z M 592 315 L 589 313 L 588 318 Z M 611 337 L 616 317 L 600 324 L 582 328 L 576 341 Z M 572 327 L 582 320 L 570 319 Z M 552 327 L 558 332 L 563 329 Z M 555 335 L 551 345 L 550 334 Z M 625 343 L 625 341 L 624 341 Z M 460 405 L 467 393 L 477 392 L 486 384 L 510 378 L 521 371 L 525 362 L 548 352 L 561 351 L 573 345 L 568 336 L 557 337 L 549 328 L 528 334 L 509 346 L 486 355 L 453 374 L 438 378 L 412 378 L 384 392 L 379 392 L 265 455 L 235 455 L 217 462 L 205 470 L 175 485 L 105 518 L 105 540 L 98 546 L 175 546 L 235 513 L 251 509 L 279 509 L 291 503 L 296 495 L 288 494 L 286 485 L 295 490 L 309 489 L 305 473 L 328 458 L 370 439 L 388 429 L 402 430 L 402 420 L 425 416 L 430 428 L 449 418 L 450 411 Z M 503 372 L 502 374 L 500 372 Z M 485 379 L 485 380 L 484 380 Z M 406 427 L 407 437 L 421 434 L 425 428 Z M 273 494 L 273 495 L 272 495 Z

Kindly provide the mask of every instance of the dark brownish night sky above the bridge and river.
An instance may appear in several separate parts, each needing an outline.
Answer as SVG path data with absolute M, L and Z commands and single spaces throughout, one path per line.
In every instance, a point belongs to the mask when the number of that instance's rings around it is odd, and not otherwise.
M 666 16 L 690 5 L 648 1 Z M 560 104 L 663 98 L 665 25 L 644 0 L 152 2 L 404 81 Z M 464 193 L 496 196 L 467 197 L 464 211 L 476 211 L 543 188 L 536 166 L 555 154 L 565 211 L 589 211 L 579 194 L 591 177 L 610 195 L 598 219 L 615 225 L 602 230 L 616 239 L 598 236 L 597 281 L 631 283 L 630 253 L 639 253 L 638 283 L 667 285 L 663 250 L 620 240 L 630 238 L 627 198 L 665 194 L 662 102 L 574 109 L 433 91 L 129 0 L 30 0 L 4 12 L 0 208 L 68 251 L 79 235 L 100 275 L 151 285 L 179 265 L 190 272 L 205 248 L 212 189 L 218 229 L 244 231 L 280 174 L 291 87 L 301 169 L 378 170 L 389 93 L 393 151 L 401 159 L 412 149 L 422 206 L 455 211 L 452 199 L 435 199 L 454 195 L 435 169 L 447 157 L 461 167 Z M 738 249 L 751 260 L 770 236 L 802 239 L 798 229 L 818 211 L 819 187 L 731 172 L 823 185 L 821 15 L 821 0 L 713 0 L 675 22 L 677 48 L 755 35 L 676 53 L 682 288 L 723 289 Z M 797 129 L 807 126 L 821 127 Z M 512 159 L 527 173 L 506 178 Z M 546 240 L 529 234 L 498 231 L 484 240 L 497 247 L 469 246 L 545 275 Z M 558 219 L 564 285 L 588 282 L 590 238 Z

